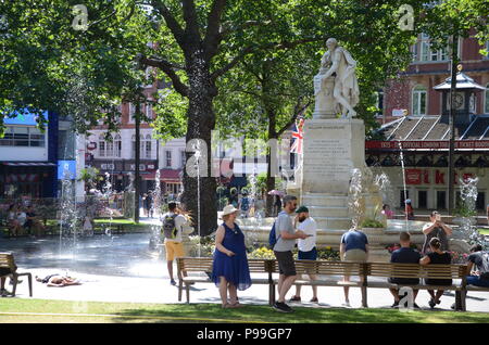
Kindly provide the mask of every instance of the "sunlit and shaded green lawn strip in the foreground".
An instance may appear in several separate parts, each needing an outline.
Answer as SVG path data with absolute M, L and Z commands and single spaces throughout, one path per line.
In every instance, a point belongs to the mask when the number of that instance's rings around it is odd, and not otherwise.
M 394 309 L 343 309 L 296 307 L 292 314 L 268 306 L 249 305 L 222 309 L 217 304 L 133 304 L 47 299 L 0 299 L 0 323 L 5 322 L 238 322 L 238 323 L 479 323 L 487 314 L 455 311 L 399 311 Z

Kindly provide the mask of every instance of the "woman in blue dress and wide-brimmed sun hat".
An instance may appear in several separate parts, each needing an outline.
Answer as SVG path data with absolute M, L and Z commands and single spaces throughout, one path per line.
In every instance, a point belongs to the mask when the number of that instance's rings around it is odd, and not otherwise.
M 237 216 L 238 209 L 235 206 L 224 207 L 224 222 L 217 228 L 215 234 L 212 280 L 220 289 L 223 308 L 239 307 L 237 290 L 243 291 L 251 286 L 244 234 L 235 223 Z M 229 302 L 227 299 L 228 291 Z

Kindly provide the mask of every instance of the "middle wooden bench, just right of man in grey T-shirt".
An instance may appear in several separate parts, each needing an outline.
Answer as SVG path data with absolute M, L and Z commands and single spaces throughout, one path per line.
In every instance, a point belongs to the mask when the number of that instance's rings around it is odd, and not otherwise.
M 278 273 L 278 263 L 273 260 L 273 272 Z M 362 292 L 362 306 L 366 307 L 366 281 L 365 273 L 367 267 L 365 263 L 359 261 L 326 261 L 326 260 L 296 260 L 297 274 L 316 274 L 315 280 L 305 280 L 298 278 L 294 281 L 294 285 L 315 285 L 315 286 L 335 286 L 335 288 L 360 288 Z M 336 276 L 336 279 L 333 277 Z M 344 276 L 358 276 L 360 281 L 343 281 Z M 274 279 L 273 283 L 277 284 L 277 280 Z M 274 286 L 275 292 L 275 286 Z M 275 301 L 275 295 L 273 299 Z

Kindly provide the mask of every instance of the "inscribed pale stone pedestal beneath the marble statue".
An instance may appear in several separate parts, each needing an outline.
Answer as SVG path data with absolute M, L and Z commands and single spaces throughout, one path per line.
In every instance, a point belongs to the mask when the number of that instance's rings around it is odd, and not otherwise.
M 311 119 L 304 124 L 301 203 L 317 228 L 350 229 L 348 200 L 354 168 L 365 166 L 365 126 L 361 119 Z

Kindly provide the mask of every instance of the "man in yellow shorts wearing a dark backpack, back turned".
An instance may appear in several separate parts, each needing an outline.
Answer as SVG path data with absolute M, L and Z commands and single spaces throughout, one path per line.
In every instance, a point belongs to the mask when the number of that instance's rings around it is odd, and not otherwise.
M 168 212 L 161 217 L 162 232 L 165 238 L 166 265 L 168 267 L 170 282 L 176 285 L 173 279 L 173 260 L 175 257 L 185 256 L 181 232 L 187 218 L 180 215 L 175 202 L 168 203 Z

